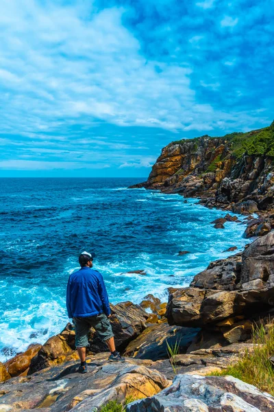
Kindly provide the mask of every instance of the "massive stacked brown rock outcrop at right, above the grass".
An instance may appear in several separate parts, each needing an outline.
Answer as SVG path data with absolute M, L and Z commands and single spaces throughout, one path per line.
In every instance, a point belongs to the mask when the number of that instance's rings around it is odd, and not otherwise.
M 212 262 L 194 277 L 190 287 L 171 291 L 166 318 L 170 325 L 214 328 L 232 343 L 247 339 L 251 330 L 248 320 L 270 312 L 273 296 L 271 231 L 242 253 Z

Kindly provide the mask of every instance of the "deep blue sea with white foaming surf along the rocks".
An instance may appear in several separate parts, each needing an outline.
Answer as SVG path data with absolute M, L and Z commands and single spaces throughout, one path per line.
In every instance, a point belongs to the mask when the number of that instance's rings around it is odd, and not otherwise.
M 138 304 L 148 293 L 166 301 L 169 286 L 188 286 L 248 242 L 241 223 L 210 225 L 224 211 L 127 189 L 138 181 L 0 179 L 0 361 L 66 325 L 66 282 L 84 250 L 95 251 L 110 301 Z M 146 275 L 127 273 L 137 270 Z

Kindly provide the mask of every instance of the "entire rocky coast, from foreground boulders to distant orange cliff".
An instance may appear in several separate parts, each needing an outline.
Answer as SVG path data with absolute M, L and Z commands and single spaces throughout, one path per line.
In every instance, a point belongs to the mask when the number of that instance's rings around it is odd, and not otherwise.
M 273 128 L 254 130 L 249 138 Z M 273 157 L 236 157 L 235 144 L 243 139 L 238 135 L 174 142 L 162 150 L 148 181 L 134 187 L 199 197 L 206 207 L 245 214 L 245 236 L 256 239 L 245 251 L 211 262 L 189 287 L 169 288 L 167 304 L 148 295 L 140 305 L 112 305 L 124 364 L 110 364 L 106 346 L 90 330 L 90 369 L 79 376 L 71 323 L 44 345 L 0 363 L 0 412 L 99 411 L 128 396 L 144 398 L 127 406 L 132 412 L 274 410 L 274 398 L 256 387 L 208 376 L 252 353 L 253 326 L 263 321 L 268 330 L 274 321 Z M 230 220 L 235 218 L 227 213 L 212 224 L 222 229 Z M 176 370 L 166 342 L 179 342 Z

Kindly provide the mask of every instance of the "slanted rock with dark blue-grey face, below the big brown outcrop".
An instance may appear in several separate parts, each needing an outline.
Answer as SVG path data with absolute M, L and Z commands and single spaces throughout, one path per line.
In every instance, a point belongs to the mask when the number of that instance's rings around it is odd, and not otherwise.
M 167 342 L 171 347 L 177 343 L 180 353 L 186 352 L 190 343 L 195 339 L 199 329 L 180 328 L 160 323 L 145 329 L 125 349 L 125 356 L 133 356 L 138 359 L 165 359 L 169 357 Z

